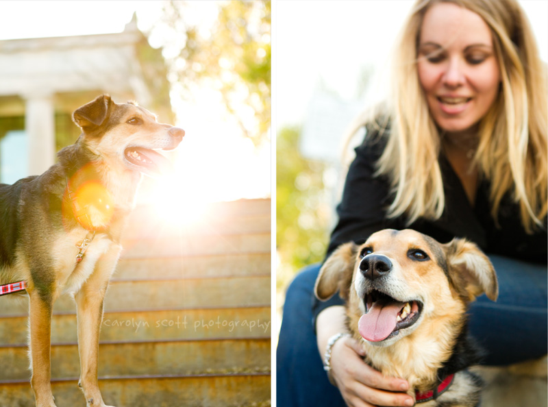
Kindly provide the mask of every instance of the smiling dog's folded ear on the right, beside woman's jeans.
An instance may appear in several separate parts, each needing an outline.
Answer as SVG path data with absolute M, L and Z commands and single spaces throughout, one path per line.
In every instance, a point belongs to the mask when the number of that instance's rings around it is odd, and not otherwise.
M 449 278 L 458 292 L 469 301 L 482 293 L 496 301 L 499 295 L 497 274 L 483 251 L 474 243 L 459 238 L 443 246 L 447 254 Z

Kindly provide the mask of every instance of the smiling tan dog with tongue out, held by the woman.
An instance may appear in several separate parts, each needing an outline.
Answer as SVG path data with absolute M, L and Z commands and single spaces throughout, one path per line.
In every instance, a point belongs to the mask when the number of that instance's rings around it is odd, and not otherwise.
M 408 380 L 417 403 L 477 406 L 481 380 L 466 368 L 479 360 L 466 335 L 466 310 L 481 293 L 495 301 L 498 284 L 476 245 L 463 239 L 442 245 L 414 230 L 382 230 L 363 245 L 338 247 L 314 291 L 319 299 L 339 291 L 365 361 Z

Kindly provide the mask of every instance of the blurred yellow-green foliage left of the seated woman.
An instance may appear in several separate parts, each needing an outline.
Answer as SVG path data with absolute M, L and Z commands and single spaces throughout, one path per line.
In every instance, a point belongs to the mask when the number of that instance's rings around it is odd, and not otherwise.
M 329 216 L 323 183 L 327 166 L 299 153 L 299 130 L 282 129 L 276 139 L 276 242 L 278 287 L 296 271 L 325 255 Z

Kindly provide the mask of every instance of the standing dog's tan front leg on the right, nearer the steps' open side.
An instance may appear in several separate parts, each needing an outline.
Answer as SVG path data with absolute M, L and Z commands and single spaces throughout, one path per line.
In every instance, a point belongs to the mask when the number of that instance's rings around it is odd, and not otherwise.
M 95 271 L 75 295 L 77 306 L 78 351 L 80 354 L 80 380 L 87 407 L 105 406 L 99 391 L 98 354 L 99 332 L 103 321 L 103 302 L 110 275 L 114 271 L 121 248 L 108 251 L 97 262 Z

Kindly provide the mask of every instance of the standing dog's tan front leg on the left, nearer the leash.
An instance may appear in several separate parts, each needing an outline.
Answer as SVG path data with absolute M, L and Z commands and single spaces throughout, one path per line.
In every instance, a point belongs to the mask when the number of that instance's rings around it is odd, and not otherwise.
M 30 380 L 36 407 L 55 407 L 51 393 L 51 313 L 53 298 L 29 290 Z

